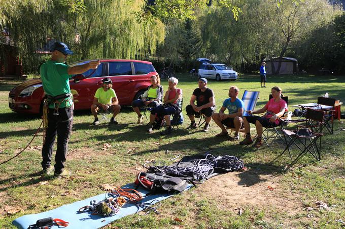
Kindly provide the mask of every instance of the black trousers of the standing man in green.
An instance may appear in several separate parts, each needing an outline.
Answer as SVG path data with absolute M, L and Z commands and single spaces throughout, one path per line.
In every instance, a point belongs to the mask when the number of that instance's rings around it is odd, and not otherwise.
M 46 130 L 45 141 L 42 147 L 42 168 L 48 168 L 51 164 L 53 146 L 57 135 L 57 149 L 55 154 L 55 172 L 61 173 L 64 169 L 73 125 L 73 108 L 59 108 L 59 115 L 53 115 L 54 109 L 48 111 L 48 128 Z

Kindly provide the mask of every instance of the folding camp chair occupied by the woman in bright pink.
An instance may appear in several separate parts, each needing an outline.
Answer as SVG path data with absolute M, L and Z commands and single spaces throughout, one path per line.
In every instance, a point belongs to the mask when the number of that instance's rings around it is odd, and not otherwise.
M 273 97 L 272 95 L 269 95 L 269 100 L 271 100 Z M 286 104 L 289 104 L 289 97 L 288 96 L 283 96 L 281 97 L 285 102 Z M 291 116 L 292 116 L 292 112 L 286 112 L 282 117 L 279 117 L 279 119 L 285 119 L 286 121 L 285 122 L 282 122 L 281 121 L 281 125 L 279 126 L 267 126 L 265 127 L 265 129 L 262 131 L 262 141 L 269 147 L 269 144 L 268 144 L 268 140 L 272 139 L 271 142 L 273 142 L 277 137 L 279 137 L 279 139 L 281 139 L 282 141 L 283 138 L 281 136 L 281 134 L 279 133 L 279 127 L 281 127 L 281 129 L 284 128 L 285 125 L 287 125 L 288 121 L 291 120 Z

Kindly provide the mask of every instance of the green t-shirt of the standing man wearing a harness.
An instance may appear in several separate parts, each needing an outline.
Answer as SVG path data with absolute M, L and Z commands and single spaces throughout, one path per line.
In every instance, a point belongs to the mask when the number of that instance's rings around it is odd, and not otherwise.
M 62 94 L 70 94 L 70 77 L 67 73 L 68 65 L 58 63 L 56 61 L 46 61 L 41 65 L 40 73 L 45 93 L 49 96 L 59 96 Z M 64 99 L 60 108 L 70 107 L 73 104 L 73 98 Z M 54 104 L 50 104 L 49 108 L 54 108 Z

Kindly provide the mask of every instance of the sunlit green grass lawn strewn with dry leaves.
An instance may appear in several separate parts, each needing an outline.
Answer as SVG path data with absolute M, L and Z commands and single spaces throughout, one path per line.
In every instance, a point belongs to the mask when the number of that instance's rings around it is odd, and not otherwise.
M 197 87 L 196 79 L 177 75 L 183 89 L 184 107 Z M 20 152 L 31 140 L 41 123 L 39 116 L 23 116 L 8 108 L 9 90 L 19 82 L 0 81 L 0 161 Z M 162 82 L 164 89 L 167 82 Z M 272 86 L 280 86 L 289 96 L 289 109 L 294 104 L 316 102 L 317 97 L 345 101 L 344 76 L 288 75 L 269 76 L 267 88 L 261 88 L 258 75 L 241 75 L 235 82 L 210 80 L 217 110 L 228 96 L 230 85 L 243 91 L 258 90 L 257 108 L 267 101 Z M 345 108 L 342 106 L 342 113 Z M 247 171 L 216 176 L 181 195 L 162 202 L 161 214 L 134 214 L 105 228 L 340 228 L 345 226 L 345 124 L 334 122 L 334 134 L 322 139 L 322 160 L 306 155 L 287 172 L 288 155 L 269 164 L 284 149 L 275 141 L 271 147 L 253 149 L 226 139 L 216 138 L 220 129 L 211 122 L 209 132 L 186 130 L 185 122 L 170 136 L 158 131 L 147 134 L 146 125 L 136 124 L 130 107 L 122 107 L 119 125 L 102 123 L 91 126 L 90 111 L 75 111 L 74 127 L 69 144 L 66 168 L 73 175 L 68 179 L 43 179 L 41 148 L 43 132 L 19 157 L 0 166 L 0 228 L 14 228 L 12 220 L 25 214 L 39 213 L 105 193 L 103 184 L 122 186 L 135 180 L 146 161 L 171 164 L 171 158 L 203 154 L 234 155 L 244 160 Z M 145 119 L 144 119 L 145 120 Z M 145 120 L 146 121 L 146 120 Z M 292 126 L 293 127 L 293 126 Z M 254 132 L 253 132 L 254 133 Z M 243 136 L 241 136 L 243 138 Z M 105 147 L 105 144 L 111 147 Z M 296 149 L 292 154 L 296 155 Z M 179 160 L 179 159 L 177 159 Z M 270 186 L 272 189 L 267 189 Z M 329 206 L 319 208 L 317 201 Z M 239 209 L 243 214 L 238 215 Z M 77 210 L 77 209 L 76 209 Z M 70 226 L 74 228 L 73 225 Z

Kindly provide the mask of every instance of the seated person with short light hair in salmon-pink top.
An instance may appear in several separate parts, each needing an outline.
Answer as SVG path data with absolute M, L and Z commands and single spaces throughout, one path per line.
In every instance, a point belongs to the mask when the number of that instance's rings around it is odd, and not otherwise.
M 151 127 L 147 130 L 148 133 L 153 132 L 153 122 L 156 115 L 164 116 L 165 119 L 166 129 L 162 132 L 162 134 L 171 133 L 170 115 L 176 114 L 180 110 L 179 106 L 182 100 L 182 89 L 176 87 L 178 82 L 179 80 L 175 77 L 168 79 L 169 88 L 164 96 L 164 104 L 152 108 L 149 123 Z

